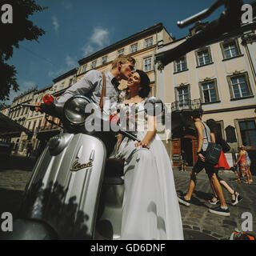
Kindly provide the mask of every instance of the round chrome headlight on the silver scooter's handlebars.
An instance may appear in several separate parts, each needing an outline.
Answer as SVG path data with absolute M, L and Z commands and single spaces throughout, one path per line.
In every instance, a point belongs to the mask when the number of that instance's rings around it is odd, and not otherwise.
M 87 104 L 90 104 L 90 98 L 85 96 L 74 96 L 70 98 L 64 106 L 64 114 L 66 119 L 73 125 L 82 125 L 86 118 L 90 115 L 85 113 Z

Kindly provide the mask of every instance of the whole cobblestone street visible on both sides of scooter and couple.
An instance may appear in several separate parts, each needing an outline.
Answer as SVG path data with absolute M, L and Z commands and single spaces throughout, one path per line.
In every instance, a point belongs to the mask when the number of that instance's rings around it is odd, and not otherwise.
M 0 214 L 9 211 L 14 218 L 17 216 L 22 191 L 30 179 L 32 174 L 30 170 L 33 165 L 34 159 L 15 157 L 11 160 L 11 165 L 6 167 L 6 170 L 0 171 Z M 14 166 L 16 166 L 16 169 L 12 169 Z M 207 200 L 212 197 L 212 191 L 207 175 L 202 171 L 198 174 L 198 183 L 190 207 L 180 205 L 186 239 L 229 239 L 235 228 L 241 230 L 242 222 L 245 221 L 245 219 L 242 219 L 242 213 L 244 212 L 252 214 L 254 230 L 248 233 L 256 235 L 256 178 L 253 177 L 253 184 L 247 185 L 235 182 L 234 173 L 231 171 L 220 171 L 219 176 L 241 194 L 242 201 L 237 206 L 232 206 L 230 204 L 230 194 L 223 190 L 226 203 L 230 209 L 230 217 L 210 214 L 208 212 L 210 204 Z M 174 179 L 177 193 L 185 193 L 190 179 L 189 171 L 179 172 L 175 169 Z

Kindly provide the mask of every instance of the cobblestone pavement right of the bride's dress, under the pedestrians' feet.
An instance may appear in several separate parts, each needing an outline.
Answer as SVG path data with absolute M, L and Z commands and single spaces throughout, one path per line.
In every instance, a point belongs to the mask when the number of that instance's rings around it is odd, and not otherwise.
M 190 230 L 198 230 L 203 234 L 209 234 L 211 237 L 218 239 L 230 238 L 230 234 L 235 228 L 241 230 L 242 213 L 249 212 L 253 215 L 253 227 L 250 234 L 256 234 L 256 186 L 255 183 L 248 185 L 243 183 L 235 182 L 235 175 L 229 170 L 223 170 L 219 172 L 219 176 L 223 178 L 234 190 L 238 191 L 242 196 L 242 201 L 236 206 L 232 206 L 231 195 L 225 189 L 223 193 L 226 199 L 226 204 L 230 209 L 230 217 L 222 217 L 208 212 L 210 203 L 208 199 L 212 198 L 212 190 L 210 187 L 209 179 L 207 175 L 202 172 L 198 174 L 198 183 L 194 190 L 194 195 L 191 198 L 191 205 L 189 207 L 180 204 L 182 212 L 182 223 L 184 234 L 186 236 L 186 230 L 190 234 Z M 254 181 L 255 181 L 255 177 Z M 175 186 L 178 194 L 186 193 L 190 174 L 189 172 L 179 172 L 174 170 Z M 193 233 L 191 234 L 193 237 Z M 190 238 L 190 237 L 188 237 Z

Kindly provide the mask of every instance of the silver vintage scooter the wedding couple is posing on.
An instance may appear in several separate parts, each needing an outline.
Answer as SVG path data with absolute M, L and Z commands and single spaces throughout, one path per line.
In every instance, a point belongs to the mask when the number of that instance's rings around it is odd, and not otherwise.
M 60 118 L 63 131 L 50 138 L 34 166 L 13 232 L 5 239 L 118 239 L 124 193 L 123 162 L 107 158 L 101 132 L 86 130 L 86 122 L 104 126 L 113 116 L 84 96 L 65 103 L 44 97 L 42 112 Z M 150 98 L 155 105 L 158 98 Z M 93 104 L 94 105 L 94 104 Z M 152 105 L 152 106 L 154 106 Z M 31 110 L 35 109 L 33 105 Z M 95 105 L 94 105 L 95 106 Z M 104 134 L 110 134 L 110 132 Z M 118 133 L 138 140 L 120 127 Z

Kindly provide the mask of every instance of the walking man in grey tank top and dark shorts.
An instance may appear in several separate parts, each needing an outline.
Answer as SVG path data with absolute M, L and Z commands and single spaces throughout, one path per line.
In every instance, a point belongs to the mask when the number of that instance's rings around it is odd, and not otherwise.
M 198 133 L 198 161 L 190 172 L 190 183 L 188 191 L 185 196 L 179 196 L 178 201 L 185 206 L 190 206 L 190 199 L 196 186 L 196 176 L 202 169 L 205 168 L 209 181 L 210 183 L 212 182 L 214 190 L 220 200 L 220 206 L 214 209 L 209 209 L 210 213 L 222 216 L 230 216 L 230 210 L 226 206 L 222 186 L 218 182 L 218 178 L 216 176 L 216 169 L 214 169 L 213 164 L 206 162 L 205 158 L 206 149 L 210 143 L 210 128 L 206 125 L 205 122 L 202 122 L 202 112 L 199 110 L 193 111 L 191 114 L 191 119 L 193 120 L 194 126 Z

